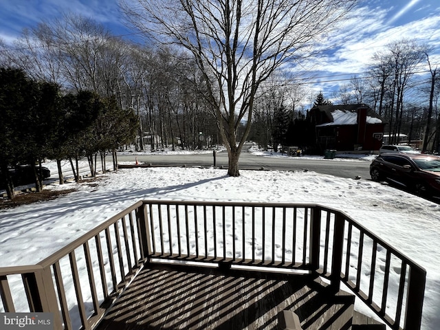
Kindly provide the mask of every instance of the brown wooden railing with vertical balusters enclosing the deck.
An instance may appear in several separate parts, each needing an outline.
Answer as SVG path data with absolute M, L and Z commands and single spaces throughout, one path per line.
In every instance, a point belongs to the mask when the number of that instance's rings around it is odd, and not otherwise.
M 36 265 L 0 268 L 0 311 L 52 311 L 55 329 L 93 329 L 156 259 L 314 272 L 392 329 L 421 327 L 425 270 L 343 212 L 292 203 L 137 202 Z

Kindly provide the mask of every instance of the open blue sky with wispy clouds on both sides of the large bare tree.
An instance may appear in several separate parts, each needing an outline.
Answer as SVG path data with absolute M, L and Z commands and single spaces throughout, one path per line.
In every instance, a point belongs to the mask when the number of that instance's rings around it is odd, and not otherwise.
M 0 0 L 0 39 L 11 43 L 23 28 L 74 12 L 94 18 L 115 35 L 126 35 L 118 0 Z M 434 48 L 431 60 L 440 64 L 439 0 L 360 0 L 353 18 L 333 34 L 330 52 L 319 58 L 313 72 L 314 89 L 334 90 L 340 80 L 362 76 L 375 52 L 391 41 L 417 39 Z

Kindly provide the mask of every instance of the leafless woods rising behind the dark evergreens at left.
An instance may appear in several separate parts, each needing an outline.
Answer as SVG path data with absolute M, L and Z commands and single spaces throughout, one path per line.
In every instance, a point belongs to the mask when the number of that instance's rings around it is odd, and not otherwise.
M 139 126 L 136 151 L 191 149 L 218 143 L 212 109 L 197 94 L 193 58 L 170 48 L 137 45 L 93 19 L 65 14 L 24 30 L 14 47 L 0 43 L 0 65 L 57 84 L 63 92 L 92 91 L 130 109 Z

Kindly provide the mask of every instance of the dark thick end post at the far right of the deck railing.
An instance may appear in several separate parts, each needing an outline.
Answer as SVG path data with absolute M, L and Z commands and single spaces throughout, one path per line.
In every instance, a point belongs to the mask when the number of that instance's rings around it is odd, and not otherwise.
M 408 275 L 408 295 L 406 299 L 404 329 L 419 330 L 421 327 L 421 313 L 423 309 L 425 285 L 426 271 L 411 265 Z

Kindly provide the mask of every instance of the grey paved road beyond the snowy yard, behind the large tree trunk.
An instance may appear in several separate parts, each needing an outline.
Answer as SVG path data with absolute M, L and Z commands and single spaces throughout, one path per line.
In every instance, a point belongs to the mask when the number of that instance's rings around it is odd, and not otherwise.
M 248 152 L 252 144 L 243 147 L 239 159 L 240 169 L 251 170 L 311 170 L 316 173 L 335 175 L 337 177 L 352 178 L 357 176 L 370 179 L 370 162 L 349 161 L 342 162 L 332 159 L 306 159 L 302 157 L 263 157 Z M 212 153 L 199 155 L 118 155 L 118 162 L 134 162 L 135 157 L 140 163 L 153 166 L 212 166 Z M 228 168 L 228 153 L 216 153 L 216 166 Z

